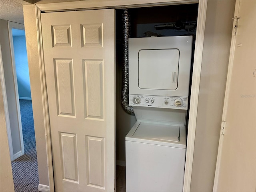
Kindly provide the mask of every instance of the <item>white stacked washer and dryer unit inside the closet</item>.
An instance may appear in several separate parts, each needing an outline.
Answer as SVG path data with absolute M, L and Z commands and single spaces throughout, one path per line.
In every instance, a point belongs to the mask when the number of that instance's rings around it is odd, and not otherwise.
M 129 39 L 126 191 L 182 191 L 192 36 Z

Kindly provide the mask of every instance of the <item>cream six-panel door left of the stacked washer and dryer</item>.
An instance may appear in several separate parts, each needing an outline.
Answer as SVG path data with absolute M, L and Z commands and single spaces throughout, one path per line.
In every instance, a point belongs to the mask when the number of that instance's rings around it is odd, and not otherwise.
M 56 191 L 114 191 L 114 13 L 41 14 Z

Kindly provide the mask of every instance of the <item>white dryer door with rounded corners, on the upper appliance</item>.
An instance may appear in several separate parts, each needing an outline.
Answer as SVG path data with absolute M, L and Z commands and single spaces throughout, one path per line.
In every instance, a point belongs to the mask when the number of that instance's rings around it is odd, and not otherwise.
M 179 55 L 178 49 L 140 50 L 138 58 L 139 88 L 176 90 Z

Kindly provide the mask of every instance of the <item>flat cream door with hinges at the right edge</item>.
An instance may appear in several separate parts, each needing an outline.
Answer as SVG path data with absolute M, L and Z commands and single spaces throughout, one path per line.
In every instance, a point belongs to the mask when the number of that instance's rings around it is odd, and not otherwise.
M 213 191 L 256 189 L 255 12 L 256 1 L 236 2 Z

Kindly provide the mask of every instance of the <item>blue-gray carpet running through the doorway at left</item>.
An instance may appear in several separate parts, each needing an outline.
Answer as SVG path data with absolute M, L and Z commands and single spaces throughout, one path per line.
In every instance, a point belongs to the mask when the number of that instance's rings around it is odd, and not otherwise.
M 20 99 L 25 154 L 12 162 L 15 192 L 38 192 L 38 166 L 31 100 Z

